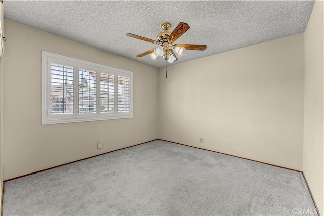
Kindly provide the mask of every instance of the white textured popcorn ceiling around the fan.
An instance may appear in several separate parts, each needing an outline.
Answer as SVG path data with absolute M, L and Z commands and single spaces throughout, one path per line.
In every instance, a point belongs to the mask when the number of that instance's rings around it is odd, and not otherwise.
M 156 45 L 127 37 L 156 39 L 160 24 L 179 22 L 190 29 L 176 42 L 205 44 L 205 51 L 186 50 L 189 61 L 305 31 L 314 1 L 10 1 L 5 18 L 124 56 L 153 67 L 165 66 L 149 55 Z M 168 63 L 169 65 L 169 63 Z

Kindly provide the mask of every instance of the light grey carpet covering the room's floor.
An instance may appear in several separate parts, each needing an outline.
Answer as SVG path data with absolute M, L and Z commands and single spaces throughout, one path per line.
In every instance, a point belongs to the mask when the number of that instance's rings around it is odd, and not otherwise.
M 296 208 L 314 209 L 301 173 L 161 140 L 5 182 L 3 199 L 4 216 L 294 215 Z

